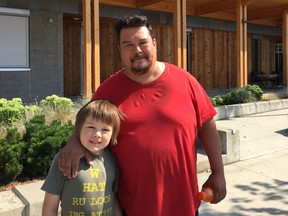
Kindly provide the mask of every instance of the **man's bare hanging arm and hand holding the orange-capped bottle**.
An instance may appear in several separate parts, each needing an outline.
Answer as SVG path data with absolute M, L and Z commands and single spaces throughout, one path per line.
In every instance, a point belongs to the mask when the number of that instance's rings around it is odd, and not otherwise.
M 207 181 L 203 184 L 203 188 L 211 187 L 214 190 L 214 200 L 211 203 L 218 203 L 225 198 L 227 192 L 221 142 L 214 119 L 206 121 L 199 128 L 198 137 L 208 156 L 212 171 Z

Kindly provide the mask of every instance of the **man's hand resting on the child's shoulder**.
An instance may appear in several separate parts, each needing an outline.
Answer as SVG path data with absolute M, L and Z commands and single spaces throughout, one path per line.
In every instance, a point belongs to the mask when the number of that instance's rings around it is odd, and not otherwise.
M 58 166 L 63 175 L 68 178 L 75 178 L 82 157 L 85 157 L 88 165 L 92 163 L 91 153 L 81 145 L 78 136 L 73 134 L 61 150 L 58 160 Z

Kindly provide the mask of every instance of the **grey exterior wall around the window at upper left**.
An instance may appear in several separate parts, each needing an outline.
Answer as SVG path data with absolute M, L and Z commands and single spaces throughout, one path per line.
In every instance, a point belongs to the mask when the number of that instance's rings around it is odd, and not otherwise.
M 0 98 L 35 102 L 63 95 L 62 22 L 62 14 L 30 12 L 30 71 L 1 71 Z

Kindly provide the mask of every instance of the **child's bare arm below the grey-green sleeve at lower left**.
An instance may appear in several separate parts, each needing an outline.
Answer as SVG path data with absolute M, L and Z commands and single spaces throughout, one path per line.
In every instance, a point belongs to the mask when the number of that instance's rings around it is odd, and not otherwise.
M 42 216 L 57 216 L 60 202 L 60 195 L 45 193 L 42 206 Z

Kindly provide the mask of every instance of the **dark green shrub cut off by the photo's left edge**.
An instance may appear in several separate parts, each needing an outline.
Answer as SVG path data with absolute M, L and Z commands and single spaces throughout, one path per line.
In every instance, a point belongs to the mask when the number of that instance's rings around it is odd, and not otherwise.
M 22 172 L 20 163 L 25 143 L 16 129 L 8 129 L 5 138 L 0 139 L 0 182 L 8 184 Z

